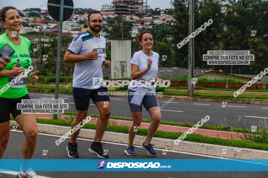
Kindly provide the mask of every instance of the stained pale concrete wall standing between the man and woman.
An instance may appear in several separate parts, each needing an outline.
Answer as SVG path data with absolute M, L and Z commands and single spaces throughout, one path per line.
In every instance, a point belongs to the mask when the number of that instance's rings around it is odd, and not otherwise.
M 130 78 L 131 40 L 111 40 L 111 78 Z

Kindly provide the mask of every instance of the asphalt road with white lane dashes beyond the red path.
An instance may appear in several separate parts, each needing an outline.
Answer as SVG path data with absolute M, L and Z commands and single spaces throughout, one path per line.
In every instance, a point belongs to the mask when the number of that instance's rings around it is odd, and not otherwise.
M 51 99 L 53 94 L 29 93 L 31 99 Z M 75 104 L 72 95 L 60 94 L 59 99 L 64 99 L 65 103 L 69 103 L 68 112 L 75 112 Z M 111 100 L 111 116 L 129 117 L 131 118 L 129 105 L 126 97 L 110 97 Z M 165 106 L 167 99 L 159 99 L 159 105 Z M 171 122 L 197 123 L 206 115 L 210 116 L 210 120 L 206 124 L 211 125 L 229 125 L 248 128 L 253 125 L 264 126 L 268 120 L 268 105 L 254 104 L 237 104 L 227 103 L 226 107 L 221 107 L 221 102 L 200 102 L 200 101 L 182 101 L 173 100 L 167 104 L 162 110 L 162 120 Z M 151 119 L 149 113 L 143 107 L 143 119 Z M 97 107 L 90 100 L 88 109 L 89 114 L 99 114 Z M 237 121 L 239 120 L 239 123 Z M 268 128 L 268 126 L 267 126 Z M 266 129 L 267 129 L 266 128 Z

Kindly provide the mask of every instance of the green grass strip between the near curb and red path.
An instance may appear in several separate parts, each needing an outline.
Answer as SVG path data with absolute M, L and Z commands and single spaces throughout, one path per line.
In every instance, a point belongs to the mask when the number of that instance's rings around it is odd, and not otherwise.
M 14 120 L 12 118 L 12 120 Z M 59 126 L 69 126 L 71 127 L 71 121 L 64 120 L 53 120 L 53 119 L 41 119 L 37 118 L 37 123 L 42 124 L 52 124 Z M 84 129 L 96 129 L 96 124 L 85 124 L 83 126 Z M 115 123 L 109 123 L 106 131 L 116 132 L 116 133 L 129 133 L 128 126 L 117 126 Z M 148 129 L 138 129 L 137 135 L 146 136 L 148 133 Z M 183 133 L 173 133 L 168 131 L 159 131 L 157 130 L 154 137 L 165 138 L 165 139 L 177 139 Z M 254 143 L 249 141 L 235 140 L 235 139 L 221 139 L 215 137 L 202 136 L 199 134 L 190 134 L 184 139 L 185 141 L 197 142 L 197 143 L 208 143 L 215 145 L 223 145 L 223 146 L 234 146 L 239 148 L 249 148 L 249 149 L 260 149 L 260 150 L 268 150 L 268 144 L 266 143 Z

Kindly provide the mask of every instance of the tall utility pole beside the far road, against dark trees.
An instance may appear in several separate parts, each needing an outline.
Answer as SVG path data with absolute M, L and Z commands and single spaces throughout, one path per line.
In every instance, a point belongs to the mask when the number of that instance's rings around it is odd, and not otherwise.
M 194 32 L 194 0 L 189 0 L 189 35 Z M 192 84 L 192 78 L 194 77 L 194 38 L 190 38 L 188 44 L 188 96 L 194 96 L 194 84 Z

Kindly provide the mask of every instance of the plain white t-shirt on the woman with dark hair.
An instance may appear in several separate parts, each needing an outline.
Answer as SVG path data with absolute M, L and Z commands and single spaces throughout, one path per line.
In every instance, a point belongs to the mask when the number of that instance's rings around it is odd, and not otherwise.
M 155 78 L 157 75 L 157 72 L 158 72 L 158 65 L 159 65 L 159 54 L 158 53 L 153 52 L 152 56 L 147 56 L 146 54 L 143 53 L 142 50 L 135 52 L 132 59 L 131 59 L 130 65 L 131 64 L 139 65 L 138 71 L 141 71 L 141 70 L 147 68 L 148 59 L 152 59 L 151 69 L 148 72 L 146 72 L 146 74 L 144 74 L 143 77 Z M 139 80 L 142 80 L 143 77 L 136 79 L 136 81 L 139 82 Z M 155 92 L 155 86 L 152 89 L 145 88 L 145 87 L 138 87 L 138 86 L 140 86 L 139 84 L 136 87 L 131 87 L 131 86 L 134 86 L 134 83 L 135 82 L 132 79 L 128 88 L 135 91 L 135 92 Z

